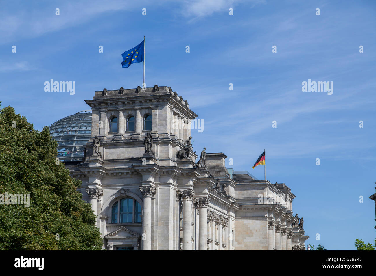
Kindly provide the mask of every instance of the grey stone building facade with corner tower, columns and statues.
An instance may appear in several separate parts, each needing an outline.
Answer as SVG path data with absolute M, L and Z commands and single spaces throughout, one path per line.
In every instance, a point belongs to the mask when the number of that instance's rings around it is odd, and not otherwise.
M 86 103 L 91 139 L 66 165 L 105 249 L 305 250 L 289 187 L 229 173 L 221 152 L 195 163 L 186 141 L 197 115 L 170 87 L 103 89 Z

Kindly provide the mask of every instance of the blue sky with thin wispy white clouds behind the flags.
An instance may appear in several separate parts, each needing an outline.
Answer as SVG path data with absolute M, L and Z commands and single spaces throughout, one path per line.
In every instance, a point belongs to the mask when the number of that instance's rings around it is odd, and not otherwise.
M 2 107 L 41 130 L 89 109 L 95 90 L 141 86 L 142 63 L 121 68 L 121 53 L 145 35 L 147 86 L 171 86 L 204 120 L 194 150 L 224 152 L 227 167 L 262 179 L 252 165 L 265 148 L 267 179 L 296 195 L 306 244 L 373 243 L 374 1 L 34 2 L 1 1 Z M 51 78 L 75 81 L 76 94 L 45 92 Z M 302 92 L 308 79 L 333 81 L 333 94 Z

